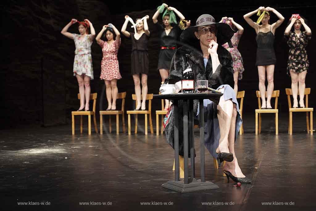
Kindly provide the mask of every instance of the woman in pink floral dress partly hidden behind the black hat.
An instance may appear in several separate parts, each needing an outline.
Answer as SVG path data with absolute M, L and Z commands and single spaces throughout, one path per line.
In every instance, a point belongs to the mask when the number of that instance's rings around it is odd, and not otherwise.
M 227 23 L 230 27 L 232 28 L 234 27 L 238 29 L 238 31 L 234 34 L 234 36 L 231 39 L 233 48 L 230 48 L 228 46 L 228 43 L 225 43 L 223 45 L 223 47 L 225 47 L 232 54 L 232 57 L 233 57 L 234 82 L 235 82 L 234 92 L 237 95 L 238 80 L 242 79 L 242 73 L 245 70 L 244 65 L 243 65 L 244 62 L 242 60 L 241 54 L 239 50 L 237 49 L 240 37 L 242 33 L 244 32 L 244 28 L 242 28 L 242 26 L 240 26 L 238 23 L 234 22 L 233 18 L 222 17 L 222 20 L 220 22 Z

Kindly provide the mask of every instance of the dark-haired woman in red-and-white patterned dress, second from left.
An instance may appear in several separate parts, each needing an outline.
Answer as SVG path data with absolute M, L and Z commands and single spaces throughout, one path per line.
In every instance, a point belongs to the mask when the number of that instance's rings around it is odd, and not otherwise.
M 103 33 L 106 41 L 100 39 Z M 95 39 L 101 46 L 103 53 L 100 79 L 104 80 L 106 86 L 106 99 L 108 104 L 106 110 L 116 110 L 116 98 L 118 95 L 117 80 L 122 78 L 119 73 L 119 61 L 117 58 L 121 44 L 120 33 L 114 25 L 109 23 L 103 26 Z

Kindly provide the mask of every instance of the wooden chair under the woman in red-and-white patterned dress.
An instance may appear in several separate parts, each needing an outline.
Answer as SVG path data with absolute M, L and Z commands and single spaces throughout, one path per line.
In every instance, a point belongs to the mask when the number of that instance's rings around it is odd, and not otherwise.
M 111 115 L 116 115 L 116 134 L 119 134 L 119 115 L 122 115 L 123 132 L 125 133 L 125 119 L 124 119 L 124 107 L 125 107 L 126 92 L 120 92 L 117 95 L 117 99 L 122 99 L 121 110 L 115 111 L 100 111 L 100 134 L 103 134 L 103 115 L 109 115 L 109 132 L 112 133 Z

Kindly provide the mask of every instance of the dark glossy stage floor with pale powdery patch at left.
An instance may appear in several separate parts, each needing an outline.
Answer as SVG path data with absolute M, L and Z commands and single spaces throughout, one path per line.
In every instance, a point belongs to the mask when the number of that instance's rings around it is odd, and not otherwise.
M 313 210 L 314 135 L 306 133 L 304 115 L 293 117 L 293 135 L 289 135 L 287 115 L 279 117 L 278 136 L 273 115 L 264 115 L 258 136 L 254 133 L 254 114 L 244 116 L 245 133 L 238 135 L 235 151 L 243 173 L 253 179 L 252 184 L 236 188 L 232 180 L 228 183 L 222 177 L 222 167 L 215 170 L 213 158 L 205 150 L 205 179 L 219 189 L 182 194 L 161 187 L 174 177 L 173 149 L 165 135 L 148 131 L 145 136 L 142 121 L 138 134 L 130 136 L 116 135 L 115 123 L 112 134 L 106 132 L 105 125 L 103 135 L 95 134 L 92 127 L 91 136 L 87 127 L 80 134 L 78 125 L 76 135 L 71 135 L 71 122 L 65 126 L 2 130 L 1 209 Z M 155 119 L 153 123 L 155 132 Z M 198 132 L 195 129 L 197 178 Z M 28 205 L 18 205 L 21 202 Z

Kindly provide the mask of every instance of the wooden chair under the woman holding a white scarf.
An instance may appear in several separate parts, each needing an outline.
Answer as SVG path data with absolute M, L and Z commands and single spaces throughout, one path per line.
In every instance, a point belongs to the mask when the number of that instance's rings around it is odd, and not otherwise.
M 132 94 L 132 98 L 133 100 L 137 100 L 136 95 Z M 146 100 L 149 100 L 148 102 L 148 110 L 138 110 L 138 111 L 126 111 L 127 115 L 128 115 L 128 134 L 131 134 L 131 114 L 135 114 L 135 134 L 137 134 L 137 115 L 138 114 L 144 114 L 145 115 L 145 135 L 147 135 L 147 115 L 149 114 L 149 125 L 150 125 L 150 133 L 153 134 L 154 130 L 153 130 L 153 122 L 151 119 L 151 100 L 153 99 L 153 94 L 148 94 L 146 96 Z M 136 101 L 136 107 L 137 107 L 137 101 Z

